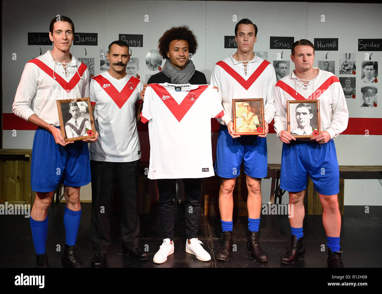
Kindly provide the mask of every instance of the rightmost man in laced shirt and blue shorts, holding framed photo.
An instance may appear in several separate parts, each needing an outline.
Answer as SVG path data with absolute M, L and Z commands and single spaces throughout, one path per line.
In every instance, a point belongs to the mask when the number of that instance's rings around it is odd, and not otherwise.
M 324 212 L 322 222 L 327 235 L 328 267 L 343 267 L 340 248 L 341 215 L 338 209 L 339 170 L 333 137 L 348 124 L 348 109 L 338 78 L 331 72 L 313 67 L 314 45 L 306 39 L 292 46 L 295 70 L 277 82 L 274 89 L 276 114 L 274 128 L 283 142 L 280 189 L 289 191 L 293 205 L 291 244 L 280 261 L 292 264 L 305 257 L 303 244 L 304 195 L 307 175 L 319 193 Z M 319 100 L 321 133 L 310 141 L 296 140 L 288 133 L 287 100 Z M 306 139 L 305 139 L 306 140 Z

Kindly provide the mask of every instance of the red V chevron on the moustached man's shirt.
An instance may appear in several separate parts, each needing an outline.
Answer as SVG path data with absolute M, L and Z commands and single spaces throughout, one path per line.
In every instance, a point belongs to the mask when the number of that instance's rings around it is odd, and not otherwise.
M 126 83 L 125 87 L 123 87 L 121 92 L 110 83 L 107 78 L 104 78 L 102 75 L 97 75 L 92 78 L 105 90 L 107 95 L 113 99 L 115 104 L 121 109 L 122 106 L 126 103 L 126 101 L 130 98 L 131 94 L 135 90 L 135 88 L 139 84 L 138 78 L 131 77 Z

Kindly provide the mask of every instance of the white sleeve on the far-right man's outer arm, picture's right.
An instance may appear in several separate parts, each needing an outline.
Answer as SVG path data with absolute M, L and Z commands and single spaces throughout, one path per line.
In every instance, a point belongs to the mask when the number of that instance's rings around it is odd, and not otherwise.
M 332 121 L 326 131 L 330 135 L 330 139 L 337 137 L 348 127 L 349 112 L 346 105 L 345 95 L 340 86 L 336 83 L 335 91 L 332 91 Z M 337 92 L 337 93 L 336 93 Z

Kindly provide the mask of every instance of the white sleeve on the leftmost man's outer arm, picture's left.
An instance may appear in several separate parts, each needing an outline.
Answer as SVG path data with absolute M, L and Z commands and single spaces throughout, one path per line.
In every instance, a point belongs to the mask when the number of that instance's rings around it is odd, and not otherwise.
M 20 83 L 16 90 L 15 101 L 13 101 L 12 111 L 16 116 L 28 121 L 29 116 L 35 114 L 31 109 L 31 102 L 37 90 L 37 65 L 27 63 L 21 75 Z M 47 89 L 46 96 L 49 97 L 50 88 Z

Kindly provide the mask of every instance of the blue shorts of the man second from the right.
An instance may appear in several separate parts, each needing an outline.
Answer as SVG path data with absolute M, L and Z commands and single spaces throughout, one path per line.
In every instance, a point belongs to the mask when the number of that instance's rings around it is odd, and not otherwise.
M 233 139 L 227 126 L 220 125 L 216 146 L 215 173 L 222 178 L 236 178 L 240 175 L 242 161 L 244 161 L 246 175 L 253 178 L 267 176 L 267 139 L 254 135 Z

